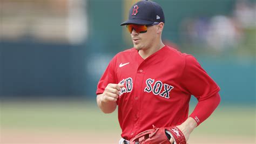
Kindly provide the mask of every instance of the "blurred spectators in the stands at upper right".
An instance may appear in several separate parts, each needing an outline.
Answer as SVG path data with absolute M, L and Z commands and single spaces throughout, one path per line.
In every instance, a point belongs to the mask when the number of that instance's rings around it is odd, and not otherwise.
M 230 16 L 185 18 L 181 23 L 181 37 L 184 43 L 219 52 L 234 49 L 244 42 L 246 30 L 256 29 L 255 13 L 255 2 L 239 0 Z

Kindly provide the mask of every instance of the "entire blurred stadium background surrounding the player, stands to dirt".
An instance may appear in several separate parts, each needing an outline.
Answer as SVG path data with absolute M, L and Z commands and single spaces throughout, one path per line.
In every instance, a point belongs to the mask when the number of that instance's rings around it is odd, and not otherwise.
M 134 2 L 0 1 L 0 143 L 118 142 L 117 113 L 100 112 L 95 91 L 114 54 L 132 47 L 119 24 Z M 256 1 L 155 2 L 164 43 L 193 54 L 221 87 L 188 142 L 255 143 Z

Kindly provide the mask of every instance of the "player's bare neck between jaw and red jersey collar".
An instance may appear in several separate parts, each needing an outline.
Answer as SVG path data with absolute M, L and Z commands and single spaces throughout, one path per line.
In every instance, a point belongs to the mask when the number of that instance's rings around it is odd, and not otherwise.
M 148 47 L 147 49 L 139 50 L 139 55 L 143 59 L 146 59 L 147 57 L 151 56 L 151 54 L 159 51 L 164 46 L 165 45 L 163 44 L 163 42 L 160 42 L 157 45 L 152 45 L 151 47 Z

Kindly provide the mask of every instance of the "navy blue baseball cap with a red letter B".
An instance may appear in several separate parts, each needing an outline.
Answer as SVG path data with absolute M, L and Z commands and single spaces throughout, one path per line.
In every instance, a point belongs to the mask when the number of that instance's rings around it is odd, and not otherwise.
M 129 11 L 129 19 L 120 25 L 152 25 L 160 22 L 165 22 L 164 12 L 161 6 L 151 1 L 139 1 L 132 5 Z

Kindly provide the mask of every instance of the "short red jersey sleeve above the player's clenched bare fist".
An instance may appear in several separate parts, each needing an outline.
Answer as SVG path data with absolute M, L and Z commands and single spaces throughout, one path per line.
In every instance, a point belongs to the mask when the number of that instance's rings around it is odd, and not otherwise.
M 114 74 L 114 58 L 110 61 L 109 65 L 107 66 L 105 72 L 102 75 L 102 78 L 100 78 L 99 82 L 98 82 L 98 86 L 97 86 L 97 91 L 96 94 L 101 94 L 104 92 L 105 87 L 108 84 L 117 84 L 116 82 L 116 77 Z

